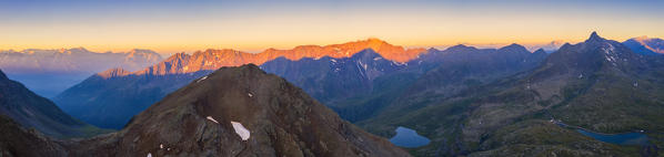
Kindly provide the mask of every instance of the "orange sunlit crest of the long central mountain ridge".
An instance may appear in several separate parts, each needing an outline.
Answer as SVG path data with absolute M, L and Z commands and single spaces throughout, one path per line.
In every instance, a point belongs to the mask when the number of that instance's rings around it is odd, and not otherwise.
M 368 39 L 325 46 L 301 45 L 291 50 L 268 49 L 260 53 L 248 53 L 230 49 L 205 50 L 194 52 L 191 55 L 185 53 L 177 53 L 157 65 L 150 66 L 142 71 L 133 72 L 131 74 L 184 74 L 205 70 L 213 71 L 222 66 L 239 66 L 249 63 L 263 64 L 278 57 L 283 57 L 291 61 L 298 61 L 304 57 L 320 59 L 324 56 L 341 59 L 350 57 L 365 49 L 374 50 L 386 60 L 394 62 L 408 62 L 417 57 L 417 55 L 421 53 L 426 52 L 424 49 L 404 49 L 402 46 L 392 45 L 379 39 Z

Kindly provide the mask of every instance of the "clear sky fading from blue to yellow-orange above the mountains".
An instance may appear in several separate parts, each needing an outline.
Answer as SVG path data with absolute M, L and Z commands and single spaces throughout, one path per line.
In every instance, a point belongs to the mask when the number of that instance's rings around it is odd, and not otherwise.
M 664 38 L 662 0 L 0 0 L 0 50 L 260 52 L 379 38 L 429 48 Z

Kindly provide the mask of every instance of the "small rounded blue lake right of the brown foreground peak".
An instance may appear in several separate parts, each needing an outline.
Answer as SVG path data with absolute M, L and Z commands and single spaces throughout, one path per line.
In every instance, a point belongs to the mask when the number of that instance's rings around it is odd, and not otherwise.
M 390 143 L 406 148 L 414 148 L 429 145 L 431 140 L 424 136 L 417 134 L 417 132 L 406 128 L 406 127 L 398 127 L 396 135 L 390 138 Z

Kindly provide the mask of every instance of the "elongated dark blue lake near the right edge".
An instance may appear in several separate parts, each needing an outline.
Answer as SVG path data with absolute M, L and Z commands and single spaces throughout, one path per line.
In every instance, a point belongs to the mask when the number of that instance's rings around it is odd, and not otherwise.
M 576 132 L 604 143 L 611 143 L 616 145 L 648 145 L 647 136 L 642 133 L 601 134 L 586 132 L 583 129 L 576 129 Z

